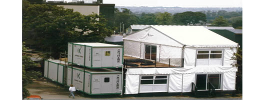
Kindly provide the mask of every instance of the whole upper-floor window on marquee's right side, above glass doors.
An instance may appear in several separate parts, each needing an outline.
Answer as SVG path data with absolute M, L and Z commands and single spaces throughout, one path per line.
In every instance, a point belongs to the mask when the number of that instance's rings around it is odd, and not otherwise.
M 221 65 L 222 50 L 198 50 L 196 65 Z

